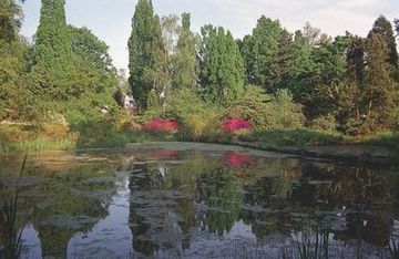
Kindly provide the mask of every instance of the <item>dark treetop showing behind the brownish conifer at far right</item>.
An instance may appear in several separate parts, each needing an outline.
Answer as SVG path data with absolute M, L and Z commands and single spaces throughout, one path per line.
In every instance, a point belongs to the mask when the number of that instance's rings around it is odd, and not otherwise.
M 374 23 L 372 29 L 369 33 L 369 37 L 371 37 L 371 33 L 380 34 L 383 40 L 388 44 L 388 62 L 393 66 L 398 66 L 398 50 L 396 44 L 396 39 L 393 35 L 393 29 L 390 21 L 388 21 L 383 15 L 380 15 Z

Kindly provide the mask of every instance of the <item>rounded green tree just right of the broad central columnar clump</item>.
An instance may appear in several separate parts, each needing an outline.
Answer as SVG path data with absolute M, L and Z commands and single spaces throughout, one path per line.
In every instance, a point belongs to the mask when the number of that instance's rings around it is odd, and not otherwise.
M 279 21 L 262 15 L 252 35 L 244 38 L 241 50 L 247 83 L 260 85 L 267 92 L 274 92 L 272 85 L 278 77 L 274 63 L 278 59 L 283 29 Z

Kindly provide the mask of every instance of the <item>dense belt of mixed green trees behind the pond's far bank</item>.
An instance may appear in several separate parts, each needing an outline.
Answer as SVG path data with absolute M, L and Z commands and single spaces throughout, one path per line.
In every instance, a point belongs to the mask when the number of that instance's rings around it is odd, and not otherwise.
M 212 24 L 194 33 L 190 13 L 160 18 L 151 0 L 139 0 L 124 76 L 90 29 L 66 24 L 64 0 L 42 0 L 32 43 L 19 34 L 21 4 L 0 6 L 0 121 L 168 118 L 192 135 L 235 117 L 262 130 L 350 136 L 399 124 L 398 20 L 380 15 L 366 38 L 331 38 L 310 23 L 290 32 L 263 15 L 249 34 L 234 39 Z M 126 93 L 134 96 L 134 115 L 122 107 Z

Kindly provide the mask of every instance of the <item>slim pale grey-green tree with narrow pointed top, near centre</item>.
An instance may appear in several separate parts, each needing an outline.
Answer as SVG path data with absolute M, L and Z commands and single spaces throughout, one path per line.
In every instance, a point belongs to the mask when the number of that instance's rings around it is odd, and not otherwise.
M 194 89 L 197 84 L 197 51 L 195 38 L 190 30 L 190 13 L 182 14 L 182 28 L 178 33 L 176 53 L 173 59 L 173 87 Z

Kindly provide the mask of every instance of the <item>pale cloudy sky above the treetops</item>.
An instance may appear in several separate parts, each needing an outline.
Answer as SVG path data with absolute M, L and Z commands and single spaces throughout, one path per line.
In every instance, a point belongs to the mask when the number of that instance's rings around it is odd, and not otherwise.
M 114 65 L 126 69 L 127 39 L 136 0 L 65 0 L 66 22 L 86 27 L 110 46 Z M 39 24 L 40 0 L 23 4 L 21 33 L 31 38 Z M 309 21 L 332 37 L 346 30 L 367 35 L 374 21 L 383 14 L 399 18 L 399 0 L 153 0 L 160 15 L 191 12 L 192 30 L 204 24 L 223 25 L 235 38 L 249 34 L 260 15 L 278 19 L 289 31 L 301 29 Z

